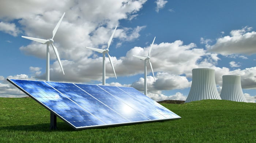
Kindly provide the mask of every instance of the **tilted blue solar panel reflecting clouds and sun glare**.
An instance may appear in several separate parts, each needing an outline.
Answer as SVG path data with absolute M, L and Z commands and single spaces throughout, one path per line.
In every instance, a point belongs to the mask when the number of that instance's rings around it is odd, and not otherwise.
M 75 129 L 181 118 L 133 87 L 7 80 Z

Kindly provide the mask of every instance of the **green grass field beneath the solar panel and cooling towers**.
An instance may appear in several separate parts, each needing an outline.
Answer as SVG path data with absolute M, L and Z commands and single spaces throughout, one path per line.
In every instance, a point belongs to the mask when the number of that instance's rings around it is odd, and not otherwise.
M 181 116 L 163 122 L 74 130 L 31 98 L 0 98 L 0 143 L 256 143 L 256 104 L 201 100 L 162 104 Z

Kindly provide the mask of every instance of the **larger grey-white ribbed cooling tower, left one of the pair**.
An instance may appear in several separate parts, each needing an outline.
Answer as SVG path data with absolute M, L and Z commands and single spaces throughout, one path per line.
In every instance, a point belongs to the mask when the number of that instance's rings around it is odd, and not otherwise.
M 215 71 L 211 68 L 192 69 L 192 85 L 185 103 L 203 99 L 221 99 L 215 83 Z

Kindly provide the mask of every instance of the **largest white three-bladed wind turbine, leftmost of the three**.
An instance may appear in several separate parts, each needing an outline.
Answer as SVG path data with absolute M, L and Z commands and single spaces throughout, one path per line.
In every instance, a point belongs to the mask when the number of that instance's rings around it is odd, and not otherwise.
M 45 39 L 38 39 L 38 38 L 33 38 L 33 37 L 21 36 L 23 38 L 26 38 L 26 39 L 29 39 L 29 40 L 32 40 L 32 41 L 36 41 L 36 42 L 39 42 L 39 43 L 42 43 L 42 44 L 46 44 L 46 48 L 47 48 L 46 49 L 46 81 L 50 81 L 50 53 L 49 53 L 50 50 L 49 50 L 49 45 L 52 45 L 52 48 L 53 48 L 54 53 L 55 53 L 55 55 L 56 55 L 56 57 L 57 57 L 57 59 L 59 61 L 60 68 L 61 68 L 61 70 L 63 72 L 63 75 L 64 75 L 64 71 L 63 71 L 63 67 L 61 65 L 61 61 L 60 61 L 60 56 L 59 56 L 58 50 L 53 45 L 53 38 L 54 38 L 54 36 L 55 36 L 59 26 L 60 26 L 60 23 L 61 23 L 64 15 L 65 15 L 65 12 L 61 16 L 61 18 L 60 18 L 59 22 L 57 23 L 56 27 L 53 29 L 53 31 L 52 31 L 52 38 L 50 38 L 50 39 L 45 40 Z

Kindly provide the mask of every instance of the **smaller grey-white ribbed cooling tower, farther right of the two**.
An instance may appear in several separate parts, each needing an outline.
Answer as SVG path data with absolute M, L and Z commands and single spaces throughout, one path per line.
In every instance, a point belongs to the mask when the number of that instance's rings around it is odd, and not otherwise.
M 222 76 L 222 100 L 231 100 L 236 102 L 246 102 L 241 87 L 240 75 L 223 75 Z

